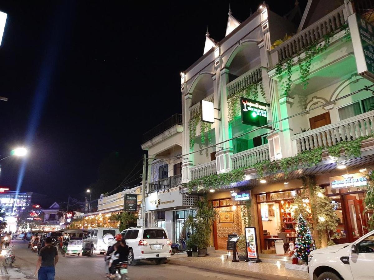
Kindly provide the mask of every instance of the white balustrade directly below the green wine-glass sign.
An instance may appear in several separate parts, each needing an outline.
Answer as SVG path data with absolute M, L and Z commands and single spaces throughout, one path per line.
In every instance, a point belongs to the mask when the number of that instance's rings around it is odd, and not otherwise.
M 269 160 L 268 144 L 242 151 L 231 156 L 233 169 L 248 167 L 264 160 Z

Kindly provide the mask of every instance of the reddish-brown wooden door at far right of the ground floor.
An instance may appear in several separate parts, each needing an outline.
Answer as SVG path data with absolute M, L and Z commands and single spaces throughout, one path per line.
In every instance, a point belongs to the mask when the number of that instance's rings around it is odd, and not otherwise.
M 344 216 L 349 242 L 363 236 L 359 200 L 356 196 L 344 195 Z

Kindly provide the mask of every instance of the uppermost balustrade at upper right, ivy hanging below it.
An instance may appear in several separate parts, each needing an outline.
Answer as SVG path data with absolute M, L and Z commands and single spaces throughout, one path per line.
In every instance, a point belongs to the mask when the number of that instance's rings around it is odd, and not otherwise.
M 286 40 L 280 46 L 271 50 L 270 53 L 278 52 L 278 61 L 281 62 L 299 55 L 315 41 L 324 41 L 326 34 L 340 30 L 341 26 L 345 24 L 346 18 L 343 10 L 345 10 L 344 5 L 338 7 L 300 33 Z

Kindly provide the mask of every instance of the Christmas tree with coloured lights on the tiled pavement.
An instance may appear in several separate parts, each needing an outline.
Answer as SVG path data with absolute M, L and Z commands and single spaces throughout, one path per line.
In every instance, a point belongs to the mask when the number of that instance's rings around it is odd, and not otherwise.
M 306 221 L 300 214 L 297 223 L 297 238 L 295 241 L 296 257 L 302 261 L 308 261 L 308 255 L 310 252 L 316 249 L 312 234 L 310 234 L 309 227 L 306 225 Z

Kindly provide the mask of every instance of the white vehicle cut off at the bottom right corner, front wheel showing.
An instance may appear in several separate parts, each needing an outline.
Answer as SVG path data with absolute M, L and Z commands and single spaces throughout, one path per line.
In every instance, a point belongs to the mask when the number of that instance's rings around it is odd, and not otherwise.
M 353 243 L 312 251 L 308 265 L 310 280 L 374 279 L 374 230 Z

